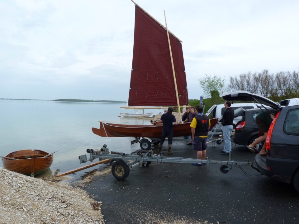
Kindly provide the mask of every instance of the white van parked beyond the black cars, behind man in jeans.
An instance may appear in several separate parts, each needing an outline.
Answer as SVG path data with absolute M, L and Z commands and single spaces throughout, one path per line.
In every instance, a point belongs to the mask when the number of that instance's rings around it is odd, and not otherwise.
M 259 107 L 263 107 L 261 104 L 255 104 L 255 103 L 232 103 L 230 105 L 230 107 L 233 109 L 233 110 L 236 110 L 240 107 L 242 107 L 243 109 L 253 109 L 253 108 L 258 108 Z M 225 106 L 224 106 L 224 103 L 223 104 L 218 104 L 218 105 L 213 105 L 207 112 L 206 112 L 206 115 L 209 116 L 209 118 L 218 118 L 218 122 L 219 122 L 219 126 L 221 127 L 221 119 L 222 119 L 222 115 L 225 111 Z M 234 124 L 237 124 L 237 122 L 239 120 L 241 120 L 242 117 L 235 117 L 233 123 Z

